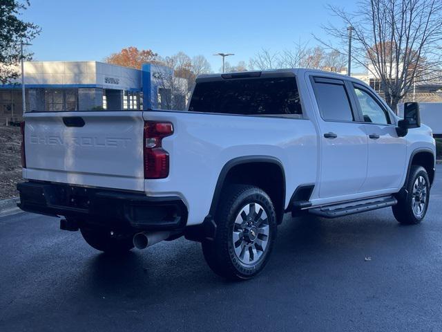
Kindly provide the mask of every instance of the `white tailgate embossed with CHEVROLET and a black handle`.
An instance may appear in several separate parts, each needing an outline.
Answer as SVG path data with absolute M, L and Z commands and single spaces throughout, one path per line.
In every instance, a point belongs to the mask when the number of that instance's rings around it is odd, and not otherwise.
M 26 113 L 32 180 L 144 190 L 142 111 Z

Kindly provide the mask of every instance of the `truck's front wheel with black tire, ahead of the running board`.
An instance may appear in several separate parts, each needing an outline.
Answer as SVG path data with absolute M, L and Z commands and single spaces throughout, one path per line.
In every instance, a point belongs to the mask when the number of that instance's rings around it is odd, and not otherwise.
M 422 188 L 425 188 L 425 194 L 423 189 L 417 192 L 414 190 L 416 181 L 420 179 L 423 179 L 421 185 Z M 428 203 L 430 202 L 430 179 L 428 178 L 425 168 L 416 165 L 412 166 L 408 181 L 405 183 L 405 189 L 407 190 L 407 194 L 398 199 L 397 205 L 392 206 L 393 214 L 396 220 L 403 225 L 416 225 L 425 217 Z M 416 205 L 414 204 L 416 201 L 421 202 L 421 199 L 425 199 L 425 203 L 420 204 L 423 208 L 418 208 L 416 212 L 414 209 Z

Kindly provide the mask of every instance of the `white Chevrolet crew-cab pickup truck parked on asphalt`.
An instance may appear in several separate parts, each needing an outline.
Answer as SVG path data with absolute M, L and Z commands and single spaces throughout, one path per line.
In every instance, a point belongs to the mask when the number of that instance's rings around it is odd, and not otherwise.
M 19 207 L 63 216 L 105 252 L 186 237 L 249 279 L 285 212 L 333 218 L 392 206 L 419 223 L 434 180 L 419 105 L 399 119 L 352 77 L 293 69 L 198 77 L 187 111 L 26 113 Z

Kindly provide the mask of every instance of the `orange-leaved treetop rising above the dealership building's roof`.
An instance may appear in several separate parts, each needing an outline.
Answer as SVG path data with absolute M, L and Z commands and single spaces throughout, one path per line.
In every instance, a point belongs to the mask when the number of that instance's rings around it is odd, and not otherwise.
M 139 50 L 135 46 L 123 48 L 104 59 L 108 64 L 141 69 L 142 64 L 157 63 L 158 55 L 153 50 Z

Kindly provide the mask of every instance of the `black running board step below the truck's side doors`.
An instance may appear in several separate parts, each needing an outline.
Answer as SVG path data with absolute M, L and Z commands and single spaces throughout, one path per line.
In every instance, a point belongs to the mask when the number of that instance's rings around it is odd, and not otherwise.
M 325 218 L 336 218 L 338 216 L 348 216 L 359 212 L 367 212 L 387 206 L 396 205 L 398 201 L 393 196 L 376 197 L 374 199 L 363 199 L 335 205 L 327 205 L 320 208 L 311 208 L 309 213 Z

